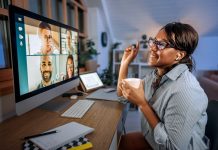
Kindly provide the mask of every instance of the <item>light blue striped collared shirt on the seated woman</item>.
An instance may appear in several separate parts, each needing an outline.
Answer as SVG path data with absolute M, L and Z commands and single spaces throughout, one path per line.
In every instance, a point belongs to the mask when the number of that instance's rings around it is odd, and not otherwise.
M 154 90 L 155 71 L 145 78 L 145 98 L 160 122 L 152 129 L 141 115 L 142 132 L 156 150 L 203 150 L 207 123 L 207 96 L 185 64 L 166 73 Z

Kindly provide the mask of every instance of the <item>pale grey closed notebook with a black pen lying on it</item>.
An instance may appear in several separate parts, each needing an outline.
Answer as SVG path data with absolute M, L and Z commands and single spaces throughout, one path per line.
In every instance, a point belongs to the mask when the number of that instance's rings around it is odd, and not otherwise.
M 49 131 L 53 130 L 57 130 L 58 133 L 31 138 L 30 141 L 41 149 L 55 150 L 94 131 L 93 128 L 79 124 L 77 122 L 70 122 Z

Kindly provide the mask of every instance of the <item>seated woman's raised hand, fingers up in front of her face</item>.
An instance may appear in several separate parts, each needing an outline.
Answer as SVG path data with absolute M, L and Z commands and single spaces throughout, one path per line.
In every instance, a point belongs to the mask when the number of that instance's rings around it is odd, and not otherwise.
M 137 42 L 136 47 L 129 46 L 124 50 L 124 54 L 121 60 L 121 65 L 126 64 L 129 65 L 133 59 L 136 57 L 139 51 L 139 42 Z

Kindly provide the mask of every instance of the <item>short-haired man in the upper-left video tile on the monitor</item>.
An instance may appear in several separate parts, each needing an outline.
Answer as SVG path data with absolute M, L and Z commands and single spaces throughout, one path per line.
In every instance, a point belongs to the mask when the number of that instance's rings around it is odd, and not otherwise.
M 60 53 L 59 50 L 55 48 L 52 39 L 51 26 L 48 23 L 40 22 L 38 28 L 38 36 L 41 39 L 40 54 L 48 55 Z

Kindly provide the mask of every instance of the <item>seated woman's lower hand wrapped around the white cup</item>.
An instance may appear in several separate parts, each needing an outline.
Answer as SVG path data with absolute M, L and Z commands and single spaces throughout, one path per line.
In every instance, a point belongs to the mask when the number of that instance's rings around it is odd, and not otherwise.
M 144 95 L 144 82 L 141 81 L 138 88 L 134 88 L 125 80 L 119 84 L 119 88 L 122 91 L 123 96 L 130 102 L 136 104 L 137 106 L 143 106 L 146 103 Z

